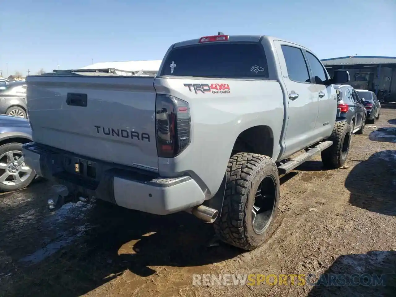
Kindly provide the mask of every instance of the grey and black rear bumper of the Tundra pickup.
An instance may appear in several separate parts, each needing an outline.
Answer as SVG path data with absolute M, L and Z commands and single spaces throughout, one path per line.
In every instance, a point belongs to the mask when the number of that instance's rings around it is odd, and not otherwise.
M 200 205 L 205 200 L 201 188 L 189 176 L 162 178 L 36 143 L 25 144 L 23 154 L 25 162 L 38 175 L 65 185 L 69 194 L 94 196 L 124 208 L 166 215 Z M 89 171 L 86 164 L 95 168 L 95 177 L 70 170 L 80 161 L 82 172 Z

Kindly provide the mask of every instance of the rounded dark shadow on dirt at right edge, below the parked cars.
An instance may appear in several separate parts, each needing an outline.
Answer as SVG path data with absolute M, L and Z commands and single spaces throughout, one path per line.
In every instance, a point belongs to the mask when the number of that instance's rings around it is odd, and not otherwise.
M 384 171 L 384 168 L 388 170 Z M 345 187 L 350 191 L 350 204 L 396 215 L 396 150 L 376 152 L 354 166 L 346 178 Z

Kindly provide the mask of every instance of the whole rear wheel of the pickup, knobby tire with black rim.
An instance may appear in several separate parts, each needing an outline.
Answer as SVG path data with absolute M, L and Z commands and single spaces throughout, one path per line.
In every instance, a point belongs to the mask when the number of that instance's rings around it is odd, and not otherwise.
M 270 235 L 279 193 L 274 160 L 245 152 L 231 156 L 221 217 L 214 223 L 217 236 L 248 251 L 261 246 Z

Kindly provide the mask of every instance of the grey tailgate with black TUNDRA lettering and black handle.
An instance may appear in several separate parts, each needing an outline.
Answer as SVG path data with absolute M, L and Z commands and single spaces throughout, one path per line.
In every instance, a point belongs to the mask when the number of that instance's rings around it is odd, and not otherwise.
M 158 171 L 153 77 L 29 76 L 33 141 Z

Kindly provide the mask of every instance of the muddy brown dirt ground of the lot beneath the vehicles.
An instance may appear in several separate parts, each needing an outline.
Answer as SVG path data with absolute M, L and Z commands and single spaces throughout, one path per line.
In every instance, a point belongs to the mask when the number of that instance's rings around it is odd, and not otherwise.
M 396 296 L 396 106 L 354 135 L 344 169 L 320 158 L 282 178 L 274 233 L 243 252 L 207 247 L 187 213 L 67 204 L 36 181 L 0 196 L 0 296 Z M 386 274 L 386 286 L 192 286 L 192 274 Z

